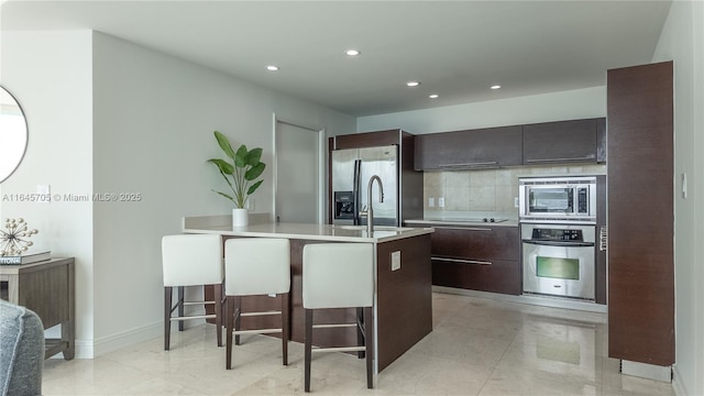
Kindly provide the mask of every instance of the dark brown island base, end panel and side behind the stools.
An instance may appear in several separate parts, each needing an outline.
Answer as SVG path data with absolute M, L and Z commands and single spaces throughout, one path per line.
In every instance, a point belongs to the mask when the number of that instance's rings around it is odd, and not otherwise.
M 290 340 L 305 341 L 302 308 L 302 249 L 312 240 L 290 240 Z M 391 270 L 392 252 L 402 252 L 402 268 Z M 377 244 L 377 348 L 381 372 L 416 342 L 432 331 L 432 273 L 430 265 L 430 234 Z M 244 311 L 276 309 L 278 298 L 245 297 Z M 321 309 L 316 311 L 317 323 L 354 322 L 354 309 Z M 242 328 L 278 327 L 273 317 L 243 318 Z M 278 337 L 278 334 L 271 334 Z M 246 341 L 243 340 L 243 343 Z M 354 329 L 316 330 L 318 346 L 342 346 L 356 343 Z

